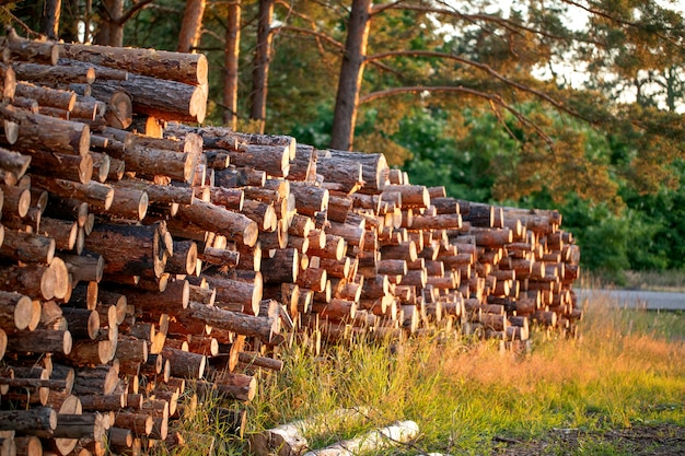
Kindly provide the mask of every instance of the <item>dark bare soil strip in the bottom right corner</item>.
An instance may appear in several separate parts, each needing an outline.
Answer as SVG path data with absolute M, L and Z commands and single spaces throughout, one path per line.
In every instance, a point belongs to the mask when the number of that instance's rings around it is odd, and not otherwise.
M 534 442 L 496 437 L 492 456 L 636 455 L 685 456 L 685 426 L 635 425 L 604 433 L 557 430 Z

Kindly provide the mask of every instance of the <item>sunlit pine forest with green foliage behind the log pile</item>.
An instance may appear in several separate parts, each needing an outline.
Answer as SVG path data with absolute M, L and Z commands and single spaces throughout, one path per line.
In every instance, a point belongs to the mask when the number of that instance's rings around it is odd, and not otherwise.
M 206 54 L 208 124 L 382 152 L 413 184 L 460 199 L 558 209 L 585 270 L 618 284 L 627 271 L 685 271 L 683 10 L 0 0 L 25 36 Z

